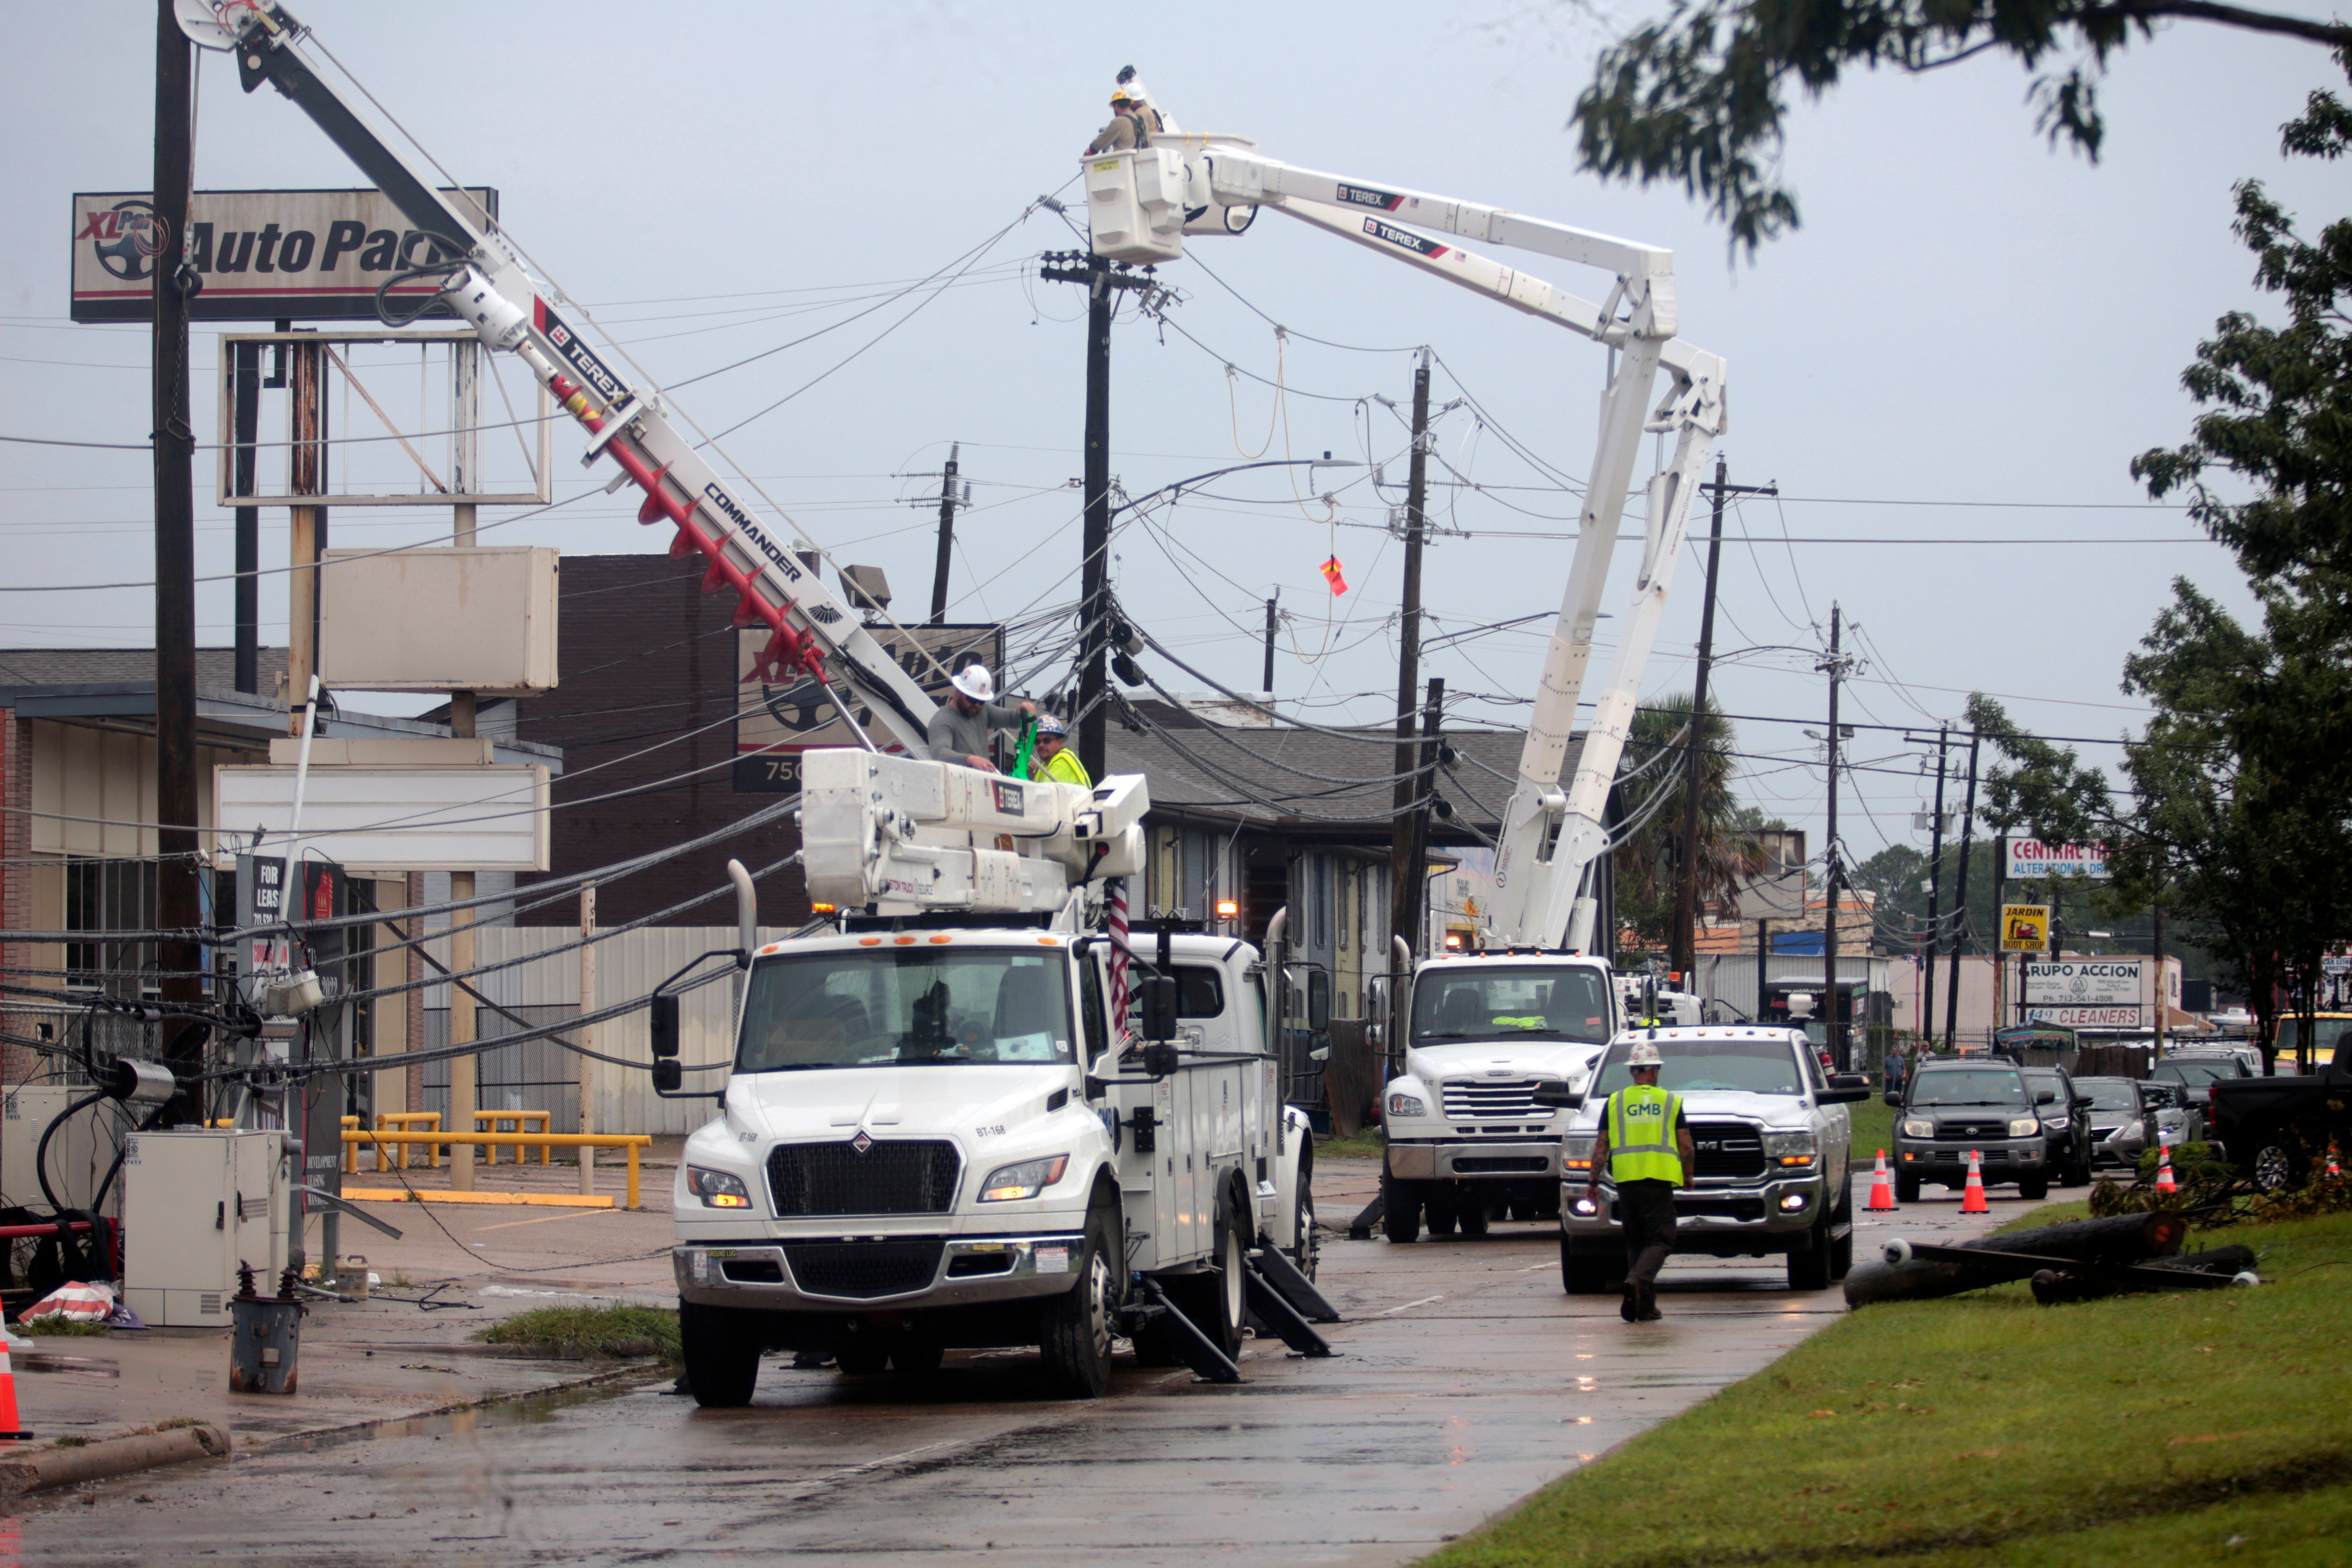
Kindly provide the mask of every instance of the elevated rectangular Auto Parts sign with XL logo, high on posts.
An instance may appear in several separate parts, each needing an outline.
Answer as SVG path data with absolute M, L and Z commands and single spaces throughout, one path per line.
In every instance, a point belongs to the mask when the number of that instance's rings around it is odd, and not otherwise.
M 499 216 L 489 188 L 466 190 L 456 205 Z M 167 249 L 181 254 L 160 230 L 143 190 L 73 197 L 73 320 L 148 320 L 155 263 Z M 183 254 L 205 284 L 188 303 L 200 322 L 374 320 L 386 277 L 445 259 L 381 190 L 198 190 Z M 405 282 L 393 294 L 430 299 L 433 282 Z

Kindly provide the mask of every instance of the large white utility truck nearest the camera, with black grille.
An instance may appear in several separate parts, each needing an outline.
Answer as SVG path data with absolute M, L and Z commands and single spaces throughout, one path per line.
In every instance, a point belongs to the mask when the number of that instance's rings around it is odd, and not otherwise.
M 927 1373 L 1037 1345 L 1080 1399 L 1115 1335 L 1230 1363 L 1249 1312 L 1282 1312 L 1268 1272 L 1312 1276 L 1315 1145 L 1282 1107 L 1258 952 L 1162 952 L 1162 1044 L 1117 1051 L 1101 936 L 891 922 L 760 947 L 673 1192 L 694 1396 L 748 1403 L 767 1349 Z

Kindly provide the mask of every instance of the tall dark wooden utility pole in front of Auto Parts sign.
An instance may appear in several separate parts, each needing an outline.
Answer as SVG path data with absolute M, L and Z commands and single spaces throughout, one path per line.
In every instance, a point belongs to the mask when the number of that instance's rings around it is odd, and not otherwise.
M 188 235 L 193 146 L 193 45 L 179 31 L 172 0 L 155 0 L 155 924 L 195 931 L 205 905 L 195 844 L 195 430 L 188 425 L 188 296 L 181 259 Z M 172 938 L 155 947 L 167 1004 L 202 1006 L 207 947 Z M 165 1023 L 162 1056 L 176 1072 L 205 1063 L 205 1030 Z M 205 1112 L 188 1088 L 172 1098 L 172 1121 Z

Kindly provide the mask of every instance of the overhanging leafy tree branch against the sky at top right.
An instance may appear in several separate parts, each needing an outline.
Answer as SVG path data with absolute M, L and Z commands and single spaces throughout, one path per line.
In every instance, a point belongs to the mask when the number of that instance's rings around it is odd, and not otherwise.
M 1583 167 L 1682 183 L 1731 226 L 1733 247 L 1797 228 L 1780 183 L 1790 92 L 1820 99 L 1849 68 L 1940 71 L 1999 52 L 2037 71 L 2037 129 L 2098 158 L 2107 56 L 2161 21 L 2209 21 L 2331 47 L 2352 28 L 2209 0 L 1672 0 L 1602 52 L 1576 99 Z M 2044 68 L 2056 66 L 2056 68 Z

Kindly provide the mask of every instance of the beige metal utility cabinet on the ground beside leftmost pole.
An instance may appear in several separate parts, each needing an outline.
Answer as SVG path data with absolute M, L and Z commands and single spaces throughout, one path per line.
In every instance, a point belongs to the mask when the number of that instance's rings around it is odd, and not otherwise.
M 285 1133 L 134 1133 L 122 1157 L 122 1302 L 160 1328 L 226 1328 L 240 1262 L 275 1293 L 292 1215 Z

